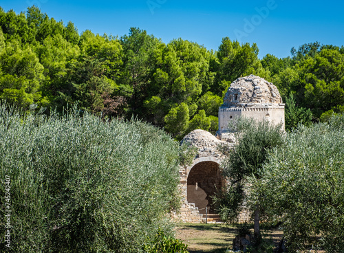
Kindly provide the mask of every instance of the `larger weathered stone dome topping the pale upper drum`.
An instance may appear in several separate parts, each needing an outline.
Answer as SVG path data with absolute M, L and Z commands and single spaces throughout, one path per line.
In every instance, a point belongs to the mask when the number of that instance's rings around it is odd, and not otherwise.
M 237 78 L 224 96 L 223 107 L 245 107 L 248 104 L 279 104 L 281 95 L 275 85 L 259 76 Z

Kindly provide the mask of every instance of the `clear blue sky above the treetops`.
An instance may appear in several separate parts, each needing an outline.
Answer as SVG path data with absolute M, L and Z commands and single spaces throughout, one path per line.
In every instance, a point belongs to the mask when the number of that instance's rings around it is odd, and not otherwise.
M 290 56 L 292 47 L 319 41 L 344 45 L 344 1 L 1 0 L 6 12 L 36 5 L 78 32 L 122 36 L 147 30 L 169 43 L 182 38 L 217 50 L 222 38 L 257 43 L 259 58 Z

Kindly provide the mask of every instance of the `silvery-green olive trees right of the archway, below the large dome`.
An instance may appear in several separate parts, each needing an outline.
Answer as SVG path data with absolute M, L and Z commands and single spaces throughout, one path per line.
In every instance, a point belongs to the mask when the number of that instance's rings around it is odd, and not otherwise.
M 289 252 L 343 252 L 344 114 L 290 133 L 252 119 L 234 123 L 237 144 L 222 148 L 229 184 L 215 198 L 222 218 L 235 221 L 248 208 L 255 225 L 261 217 L 281 224 Z

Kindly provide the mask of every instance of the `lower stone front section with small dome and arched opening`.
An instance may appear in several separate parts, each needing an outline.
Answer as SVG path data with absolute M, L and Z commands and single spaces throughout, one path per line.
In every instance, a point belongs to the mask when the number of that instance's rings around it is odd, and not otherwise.
M 183 142 L 189 142 L 196 146 L 198 153 L 190 166 L 180 167 L 180 194 L 182 197 L 182 208 L 178 213 L 171 215 L 176 221 L 200 223 L 205 221 L 205 207 L 211 205 L 208 197 L 226 184 L 221 177 L 219 164 L 223 155 L 217 149 L 219 144 L 233 146 L 233 136 L 226 136 L 224 140 L 217 139 L 211 133 L 204 130 L 195 130 L 184 137 Z M 197 190 L 196 188 L 197 183 Z M 188 188 L 189 186 L 189 188 Z M 203 194 L 203 198 L 202 195 Z M 210 203 L 209 203 L 210 202 Z M 213 210 L 209 210 L 211 214 Z M 239 222 L 248 221 L 250 214 L 242 212 Z

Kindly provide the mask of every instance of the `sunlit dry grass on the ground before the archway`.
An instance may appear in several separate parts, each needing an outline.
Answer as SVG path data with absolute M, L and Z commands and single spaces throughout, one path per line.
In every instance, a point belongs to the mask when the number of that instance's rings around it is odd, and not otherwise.
M 264 238 L 273 243 L 281 241 L 279 230 L 262 231 Z M 180 223 L 176 228 L 176 237 L 188 245 L 190 253 L 224 253 L 232 249 L 236 229 L 225 224 Z

